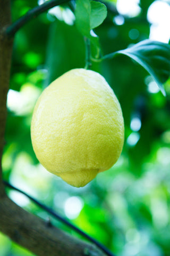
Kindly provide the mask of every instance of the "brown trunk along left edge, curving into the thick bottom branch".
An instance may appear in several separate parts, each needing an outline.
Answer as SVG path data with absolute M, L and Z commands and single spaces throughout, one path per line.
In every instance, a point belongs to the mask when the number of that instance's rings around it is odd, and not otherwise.
M 10 0 L 0 0 L 0 161 L 4 147 L 6 96 L 10 81 L 13 40 L 5 36 L 11 22 Z M 0 231 L 39 256 L 105 256 L 95 245 L 74 238 L 24 211 L 5 194 L 0 165 Z

